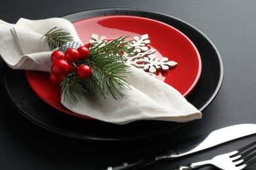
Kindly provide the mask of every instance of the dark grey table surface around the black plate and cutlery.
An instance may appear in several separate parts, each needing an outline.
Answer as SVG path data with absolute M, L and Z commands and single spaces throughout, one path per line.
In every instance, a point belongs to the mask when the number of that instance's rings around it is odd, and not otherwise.
M 202 119 L 189 122 L 175 131 L 131 141 L 93 141 L 61 135 L 22 116 L 8 99 L 1 78 L 0 169 L 96 169 L 157 152 L 186 137 L 235 124 L 256 123 L 256 1 L 1 0 L 0 19 L 14 24 L 19 18 L 37 20 L 104 8 L 160 12 L 202 31 L 216 46 L 223 60 L 224 79 L 218 95 L 203 110 Z M 2 76 L 2 59 L 0 63 Z M 161 161 L 144 169 L 172 169 L 178 164 L 186 165 L 230 152 L 252 141 L 255 141 L 253 135 L 179 160 Z M 256 169 L 256 164 L 248 169 Z

